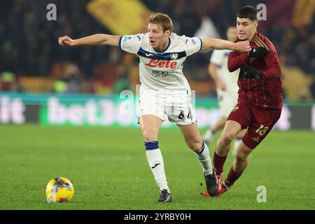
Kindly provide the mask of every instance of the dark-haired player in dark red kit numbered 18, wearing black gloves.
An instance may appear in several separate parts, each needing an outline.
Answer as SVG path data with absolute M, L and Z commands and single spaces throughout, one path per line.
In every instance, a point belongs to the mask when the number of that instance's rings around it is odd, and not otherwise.
M 257 31 L 258 10 L 245 6 L 237 14 L 235 42 L 250 41 L 250 52 L 230 52 L 228 69 L 240 68 L 237 84 L 239 98 L 216 144 L 214 167 L 219 182 L 217 196 L 229 190 L 248 165 L 248 155 L 265 139 L 279 120 L 282 108 L 281 68 L 276 48 Z M 230 143 L 241 130 L 247 129 L 237 148 L 235 160 L 222 183 L 223 165 Z

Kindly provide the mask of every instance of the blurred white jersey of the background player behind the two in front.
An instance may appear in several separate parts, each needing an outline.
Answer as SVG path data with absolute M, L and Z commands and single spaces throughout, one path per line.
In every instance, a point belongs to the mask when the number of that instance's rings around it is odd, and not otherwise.
M 228 70 L 228 55 L 230 50 L 214 50 L 211 55 L 210 63 L 218 66 L 218 78 L 226 85 L 226 92 L 231 94 L 237 94 L 239 86 L 237 85 L 237 79 L 239 78 L 239 69 L 230 72 Z

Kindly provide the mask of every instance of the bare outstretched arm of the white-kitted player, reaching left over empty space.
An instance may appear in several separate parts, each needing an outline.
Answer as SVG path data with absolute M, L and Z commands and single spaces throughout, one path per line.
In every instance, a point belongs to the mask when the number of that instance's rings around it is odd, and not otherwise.
M 78 45 L 112 45 L 118 47 L 120 36 L 112 36 L 108 34 L 94 34 L 76 40 L 69 36 L 61 36 L 58 38 L 59 45 L 78 46 Z

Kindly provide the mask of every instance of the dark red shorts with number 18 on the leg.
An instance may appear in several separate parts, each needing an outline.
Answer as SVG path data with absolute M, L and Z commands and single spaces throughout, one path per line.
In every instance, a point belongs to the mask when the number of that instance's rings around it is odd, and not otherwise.
M 235 120 L 242 130 L 247 128 L 241 141 L 248 148 L 255 148 L 272 130 L 280 115 L 281 109 L 266 110 L 253 106 L 244 99 L 238 99 L 237 106 L 231 111 L 228 120 Z

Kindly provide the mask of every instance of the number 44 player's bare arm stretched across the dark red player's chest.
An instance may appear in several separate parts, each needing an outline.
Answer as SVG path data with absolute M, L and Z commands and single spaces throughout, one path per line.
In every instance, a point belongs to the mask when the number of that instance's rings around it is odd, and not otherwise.
M 216 50 L 235 50 L 237 52 L 251 51 L 249 41 L 239 41 L 237 43 L 232 43 L 230 41 L 216 38 L 202 39 L 202 50 L 208 50 L 209 48 L 214 48 Z

